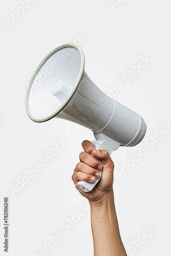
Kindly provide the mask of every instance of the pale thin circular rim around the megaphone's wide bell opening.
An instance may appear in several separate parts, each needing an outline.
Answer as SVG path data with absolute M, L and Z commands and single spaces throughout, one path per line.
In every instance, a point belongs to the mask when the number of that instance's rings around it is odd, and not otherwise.
M 30 110 L 29 110 L 29 94 L 30 94 L 30 90 L 31 90 L 31 87 L 32 87 L 32 84 L 33 84 L 33 81 L 38 73 L 38 71 L 40 70 L 40 68 L 44 65 L 44 63 L 47 61 L 47 59 L 52 56 L 52 54 L 54 54 L 55 52 L 63 49 L 63 48 L 66 48 L 66 47 L 73 47 L 75 49 L 77 49 L 80 53 L 80 57 L 81 57 L 81 65 L 80 65 L 80 71 L 79 71 L 79 74 L 78 74 L 78 77 L 77 77 L 77 80 L 75 82 L 75 86 L 74 86 L 74 89 L 72 91 L 72 93 L 70 94 L 70 96 L 68 97 L 67 101 L 65 103 L 63 103 L 61 105 L 60 108 L 58 108 L 57 111 L 55 111 L 53 114 L 49 115 L 48 117 L 46 118 L 35 118 L 32 116 L 32 114 L 30 113 Z M 73 44 L 73 43 L 67 43 L 67 44 L 63 44 L 63 45 L 60 45 L 58 47 L 56 47 L 54 50 L 52 50 L 49 54 L 46 55 L 46 57 L 44 59 L 42 59 L 42 61 L 39 63 L 38 67 L 36 68 L 36 70 L 34 71 L 31 79 L 30 79 L 30 82 L 28 84 L 28 88 L 27 88 L 27 92 L 26 92 L 26 99 L 25 99 L 25 105 L 26 105 L 26 112 L 28 114 L 28 116 L 30 117 L 30 119 L 34 122 L 46 122 L 50 119 L 52 119 L 53 117 L 55 117 L 60 111 L 62 111 L 63 108 L 65 108 L 65 106 L 67 105 L 67 103 L 70 101 L 70 99 L 72 98 L 73 94 L 75 93 L 75 91 L 77 90 L 78 86 L 79 86 L 79 83 L 80 83 L 80 80 L 83 76 L 83 73 L 84 73 L 84 67 L 85 67 L 85 57 L 84 57 L 84 53 L 81 49 L 81 47 L 79 45 L 76 45 L 76 44 Z

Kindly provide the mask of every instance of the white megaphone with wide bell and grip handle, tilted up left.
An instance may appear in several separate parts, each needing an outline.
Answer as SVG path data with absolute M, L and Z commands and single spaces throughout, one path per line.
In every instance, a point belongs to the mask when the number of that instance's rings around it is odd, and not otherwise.
M 92 130 L 96 149 L 109 154 L 119 146 L 135 146 L 144 137 L 142 117 L 103 93 L 84 71 L 82 49 L 65 44 L 51 51 L 35 70 L 26 93 L 31 120 L 66 119 Z M 101 178 L 101 176 L 100 176 Z M 89 192 L 97 184 L 78 181 Z

